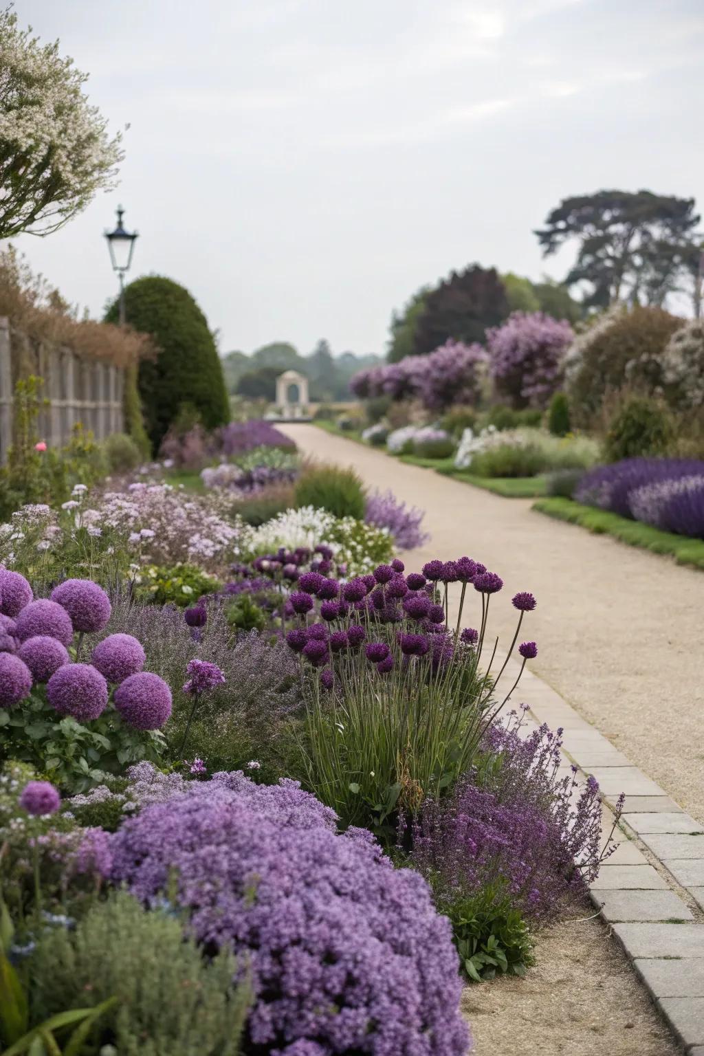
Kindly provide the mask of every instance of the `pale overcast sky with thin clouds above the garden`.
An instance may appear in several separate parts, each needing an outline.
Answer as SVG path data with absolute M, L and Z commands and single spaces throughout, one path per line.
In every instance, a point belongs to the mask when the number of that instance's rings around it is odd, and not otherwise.
M 73 302 L 188 286 L 221 351 L 383 352 L 392 308 L 478 261 L 562 278 L 533 235 L 569 194 L 704 207 L 704 0 L 16 0 L 125 133 L 119 188 L 17 244 Z

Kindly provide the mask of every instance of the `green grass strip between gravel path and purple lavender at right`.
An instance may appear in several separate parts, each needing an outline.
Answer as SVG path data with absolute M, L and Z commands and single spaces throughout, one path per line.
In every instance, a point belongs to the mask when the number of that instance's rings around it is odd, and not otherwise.
M 609 510 L 583 506 L 572 498 L 559 496 L 538 498 L 533 503 L 532 509 L 556 521 L 578 525 L 596 535 L 611 535 L 628 546 L 674 558 L 678 565 L 688 565 L 704 571 L 704 540 L 661 531 L 651 525 L 629 521 Z

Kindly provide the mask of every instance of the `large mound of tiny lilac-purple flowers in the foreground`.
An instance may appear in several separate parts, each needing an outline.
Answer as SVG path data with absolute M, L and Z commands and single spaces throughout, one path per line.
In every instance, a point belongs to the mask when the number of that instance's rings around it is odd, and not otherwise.
M 293 781 L 193 781 L 110 837 L 110 879 L 141 901 L 170 876 L 207 948 L 246 955 L 244 1051 L 463 1056 L 457 955 L 418 873 Z

